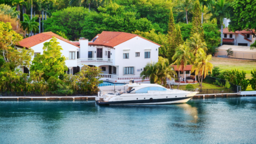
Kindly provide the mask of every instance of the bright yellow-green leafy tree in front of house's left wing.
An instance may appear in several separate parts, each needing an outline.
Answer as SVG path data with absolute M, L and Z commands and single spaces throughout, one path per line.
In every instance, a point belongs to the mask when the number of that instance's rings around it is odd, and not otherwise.
M 44 43 L 43 55 L 37 55 L 32 61 L 31 71 L 43 71 L 42 77 L 47 81 L 50 76 L 58 78 L 63 75 L 68 68 L 65 66 L 66 57 L 60 52 L 62 49 L 59 46 L 57 39 L 53 37 L 49 42 Z

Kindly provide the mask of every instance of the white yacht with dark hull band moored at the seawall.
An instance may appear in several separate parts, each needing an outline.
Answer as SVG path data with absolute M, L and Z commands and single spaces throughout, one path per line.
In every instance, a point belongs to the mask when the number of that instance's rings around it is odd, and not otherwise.
M 182 91 L 167 89 L 158 84 L 135 84 L 124 85 L 126 91 L 113 91 L 101 95 L 96 103 L 99 105 L 109 104 L 174 104 L 187 103 L 197 91 Z

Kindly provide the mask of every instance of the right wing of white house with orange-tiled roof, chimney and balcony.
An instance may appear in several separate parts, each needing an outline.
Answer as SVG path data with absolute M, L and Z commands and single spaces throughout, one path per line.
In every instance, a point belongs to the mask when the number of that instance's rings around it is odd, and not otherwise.
M 103 69 L 103 79 L 117 82 L 140 79 L 147 63 L 158 62 L 161 46 L 137 34 L 115 31 L 103 31 L 91 41 L 81 38 L 72 43 L 80 46 L 78 66 L 98 66 Z

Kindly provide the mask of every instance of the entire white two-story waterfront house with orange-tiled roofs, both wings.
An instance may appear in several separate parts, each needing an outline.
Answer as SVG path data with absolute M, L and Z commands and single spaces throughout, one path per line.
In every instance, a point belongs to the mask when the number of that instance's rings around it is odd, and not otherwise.
M 113 82 L 141 81 L 140 72 L 147 63 L 158 62 L 161 46 L 136 34 L 103 31 L 91 41 L 85 38 L 69 41 L 52 32 L 41 33 L 20 41 L 17 47 L 33 49 L 34 56 L 43 54 L 43 43 L 53 36 L 62 46 L 62 55 L 68 57 L 67 73 L 75 74 L 84 65 L 98 66 L 103 72 L 101 79 Z M 29 70 L 23 67 L 22 71 Z

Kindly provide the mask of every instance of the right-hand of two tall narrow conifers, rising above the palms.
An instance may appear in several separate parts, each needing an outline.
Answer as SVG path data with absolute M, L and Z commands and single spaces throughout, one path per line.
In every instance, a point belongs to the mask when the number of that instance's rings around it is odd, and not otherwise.
M 199 0 L 196 0 L 193 9 L 191 34 L 194 33 L 200 34 L 201 41 L 204 42 L 204 30 L 203 25 L 201 24 L 201 8 Z

